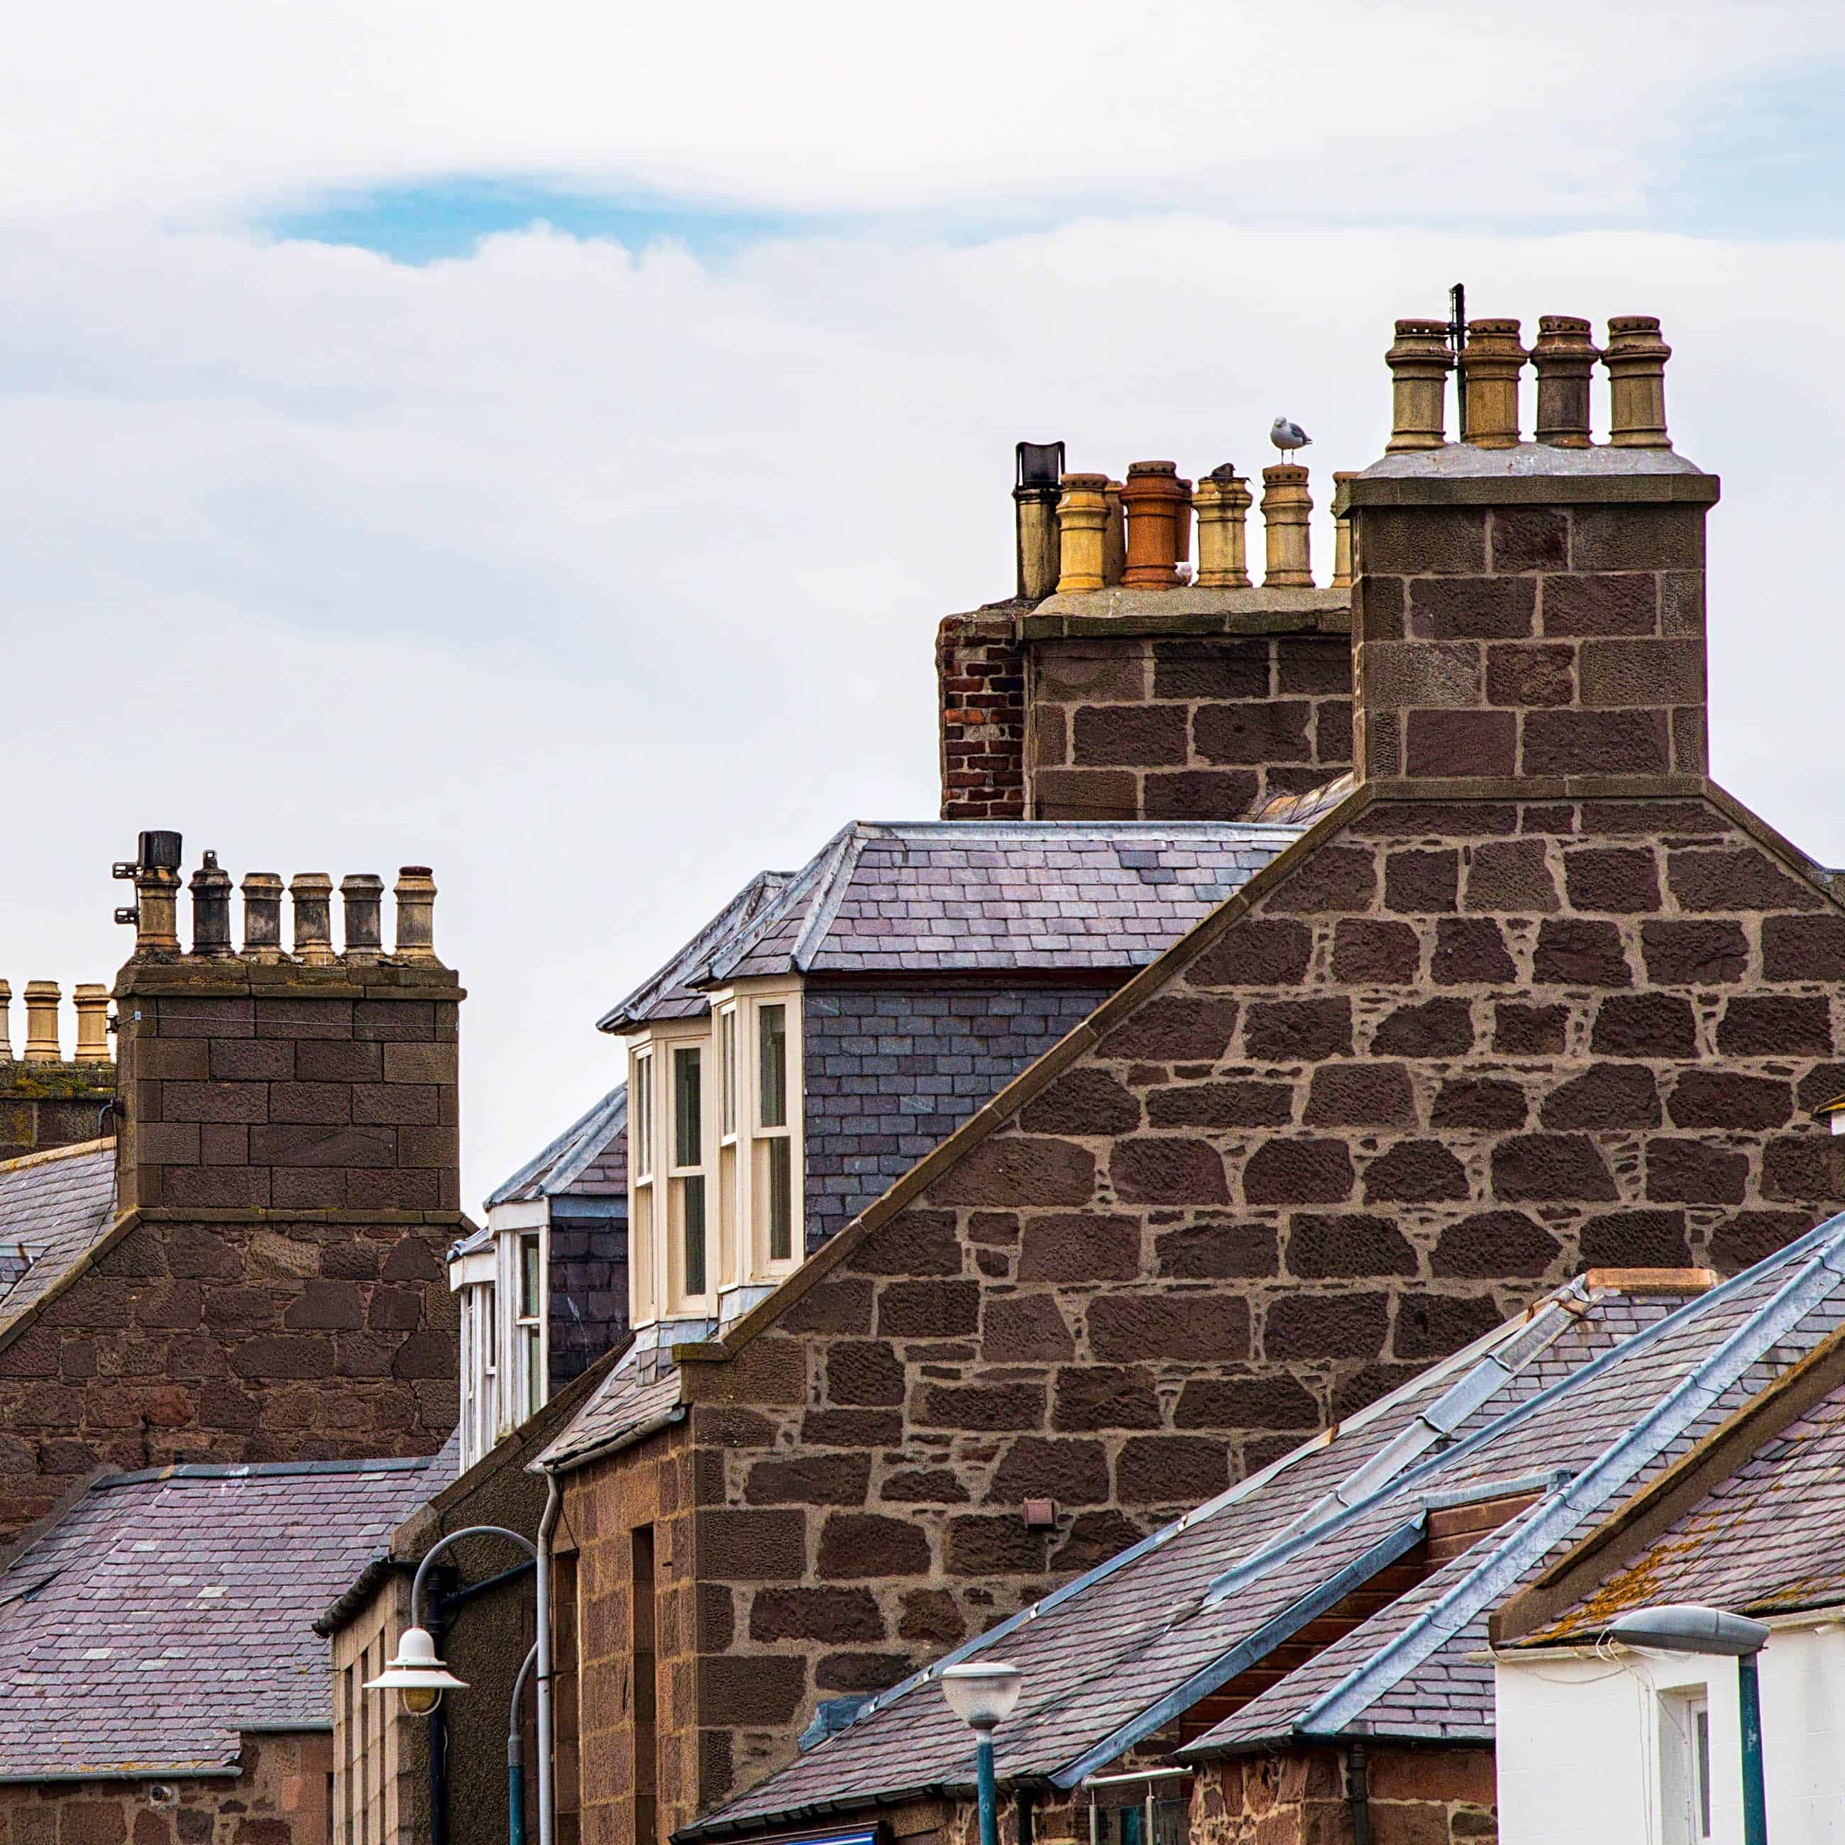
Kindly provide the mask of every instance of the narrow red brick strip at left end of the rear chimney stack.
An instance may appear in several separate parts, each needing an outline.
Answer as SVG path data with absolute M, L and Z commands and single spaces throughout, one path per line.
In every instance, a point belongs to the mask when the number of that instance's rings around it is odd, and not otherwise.
M 950 614 L 935 633 L 943 819 L 1024 819 L 1026 679 L 1013 629 L 1024 607 Z

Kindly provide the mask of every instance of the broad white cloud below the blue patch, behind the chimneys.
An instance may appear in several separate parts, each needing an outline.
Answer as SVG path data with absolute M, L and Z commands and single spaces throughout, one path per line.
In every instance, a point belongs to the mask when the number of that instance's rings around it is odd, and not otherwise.
M 1018 435 L 1255 469 L 1286 411 L 1325 504 L 1384 441 L 1391 317 L 1456 275 L 1528 323 L 1664 315 L 1679 445 L 1725 474 L 1718 769 L 1841 858 L 1814 579 L 1841 271 L 1825 244 L 1205 218 L 720 269 L 554 234 L 426 269 L 0 234 L 0 974 L 107 976 L 107 865 L 144 825 L 234 875 L 434 863 L 478 1199 L 614 1079 L 596 1013 L 749 873 L 934 812 L 934 627 L 1009 590 Z

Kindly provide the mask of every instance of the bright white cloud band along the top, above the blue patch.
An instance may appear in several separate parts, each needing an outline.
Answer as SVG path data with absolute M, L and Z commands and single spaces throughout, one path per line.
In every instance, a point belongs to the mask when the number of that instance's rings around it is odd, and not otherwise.
M 236 210 L 463 172 L 1013 223 L 1581 223 L 1721 127 L 1712 89 L 1841 44 L 1810 0 L 72 0 L 9 37 L 0 210 Z

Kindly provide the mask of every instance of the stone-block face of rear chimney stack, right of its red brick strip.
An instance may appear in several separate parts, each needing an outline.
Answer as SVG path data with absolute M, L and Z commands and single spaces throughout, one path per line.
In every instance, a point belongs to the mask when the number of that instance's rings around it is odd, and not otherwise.
M 1343 624 L 1343 611 L 1332 620 Z M 1351 768 L 1343 625 L 1249 637 L 1122 627 L 1096 620 L 1079 638 L 1031 644 L 1033 819 L 1245 819 Z

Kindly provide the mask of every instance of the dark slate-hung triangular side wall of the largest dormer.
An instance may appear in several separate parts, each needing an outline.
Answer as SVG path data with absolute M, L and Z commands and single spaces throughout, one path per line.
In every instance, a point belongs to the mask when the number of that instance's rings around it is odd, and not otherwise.
M 1076 1030 L 1116 982 L 893 989 L 808 983 L 806 1238 L 812 1253 L 1026 1065 Z

